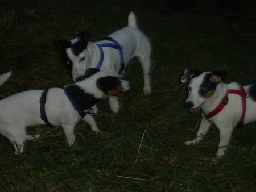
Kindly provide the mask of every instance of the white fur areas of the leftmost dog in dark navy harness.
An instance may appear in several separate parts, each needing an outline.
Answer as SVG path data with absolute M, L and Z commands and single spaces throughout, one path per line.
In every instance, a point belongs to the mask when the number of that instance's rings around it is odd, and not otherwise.
M 86 93 L 92 94 L 95 98 L 102 99 L 107 96 L 97 88 L 96 81 L 100 77 L 109 75 L 109 72 L 97 72 L 93 76 L 75 83 L 75 85 Z M 128 90 L 129 82 L 120 81 L 123 91 Z M 42 91 L 23 91 L 0 101 L 0 133 L 13 143 L 15 153 L 22 153 L 24 141 L 32 137 L 27 135 L 26 127 L 45 124 L 40 118 L 40 96 Z M 67 142 L 71 146 L 75 141 L 74 127 L 81 120 L 81 117 L 73 108 L 64 90 L 60 88 L 49 89 L 45 107 L 49 122 L 54 126 L 63 128 Z M 85 110 L 85 112 L 87 111 L 89 110 Z M 85 115 L 82 120 L 87 122 L 93 131 L 100 131 L 95 120 L 89 114 Z

